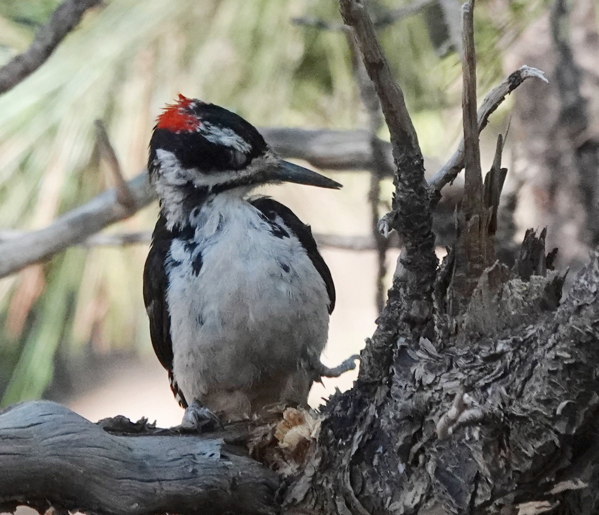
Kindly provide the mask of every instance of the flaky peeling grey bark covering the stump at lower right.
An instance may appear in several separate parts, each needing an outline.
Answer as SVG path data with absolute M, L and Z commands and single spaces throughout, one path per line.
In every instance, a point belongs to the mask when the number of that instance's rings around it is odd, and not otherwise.
M 564 277 L 547 269 L 543 240 L 530 233 L 511 271 L 486 269 L 465 313 L 441 316 L 432 340 L 399 338 L 373 398 L 331 399 L 291 504 L 503 514 L 548 502 L 551 513 L 597 513 L 599 253 L 558 305 Z M 456 396 L 461 411 L 439 438 Z

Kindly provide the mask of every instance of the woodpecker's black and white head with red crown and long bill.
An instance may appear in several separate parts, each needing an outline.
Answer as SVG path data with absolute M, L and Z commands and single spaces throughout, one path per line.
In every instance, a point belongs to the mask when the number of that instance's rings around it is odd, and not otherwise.
M 158 116 L 148 169 L 159 195 L 161 186 L 167 185 L 208 193 L 279 182 L 341 187 L 281 159 L 237 114 L 183 95 Z

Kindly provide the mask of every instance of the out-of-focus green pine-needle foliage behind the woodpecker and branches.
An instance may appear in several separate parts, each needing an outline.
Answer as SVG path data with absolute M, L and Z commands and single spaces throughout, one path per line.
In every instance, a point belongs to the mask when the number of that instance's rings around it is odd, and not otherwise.
M 0 59 L 23 50 L 31 25 L 57 4 L 5 1 Z M 497 4 L 479 8 L 483 90 L 501 74 Z M 505 19 L 522 20 L 539 2 L 507 4 L 514 12 Z M 340 21 L 333 0 L 110 0 L 88 13 L 40 70 L 0 96 L 2 226 L 45 226 L 110 186 L 95 150 L 96 118 L 107 125 L 126 174 L 140 171 L 153 120 L 179 92 L 225 105 L 255 125 L 364 125 L 344 35 L 290 24 L 304 15 Z M 455 55 L 439 59 L 424 24 L 422 16 L 395 23 L 382 41 L 423 149 L 443 152 L 436 135 L 441 110 L 459 102 L 459 62 Z M 110 230 L 149 229 L 155 217 L 151 208 Z M 42 395 L 57 352 L 150 348 L 141 301 L 146 253 L 145 246 L 75 248 L 0 281 L 2 403 Z

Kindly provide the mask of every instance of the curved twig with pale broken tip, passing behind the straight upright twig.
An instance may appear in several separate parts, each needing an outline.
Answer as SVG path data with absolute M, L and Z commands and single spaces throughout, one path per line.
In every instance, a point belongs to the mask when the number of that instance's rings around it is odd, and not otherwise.
M 489 116 L 499 107 L 501 102 L 504 101 L 509 93 L 512 93 L 516 87 L 520 86 L 527 78 L 539 78 L 540 80 L 548 83 L 544 72 L 531 66 L 521 66 L 510 75 L 507 80 L 501 83 L 499 86 L 489 92 L 485 97 L 482 105 L 480 106 L 477 113 L 478 129 L 479 133 L 484 129 L 489 121 Z M 453 156 L 450 157 L 449 161 L 432 177 L 429 181 L 431 186 L 432 201 L 433 204 L 437 204 L 440 198 L 439 192 L 443 189 L 443 186 L 449 184 L 458 177 L 459 172 L 464 168 L 464 140 L 460 141 L 458 150 L 455 151 Z

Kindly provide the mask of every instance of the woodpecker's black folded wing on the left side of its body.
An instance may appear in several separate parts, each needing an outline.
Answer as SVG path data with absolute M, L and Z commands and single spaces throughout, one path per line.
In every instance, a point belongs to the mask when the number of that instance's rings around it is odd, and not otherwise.
M 160 216 L 152 234 L 152 246 L 144 266 L 144 304 L 150 319 L 150 338 L 154 352 L 162 366 L 168 370 L 171 390 L 183 407 L 187 403 L 173 377 L 173 342 L 171 341 L 171 316 L 167 306 L 167 272 L 165 262 L 173 240 L 164 217 Z

